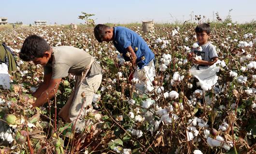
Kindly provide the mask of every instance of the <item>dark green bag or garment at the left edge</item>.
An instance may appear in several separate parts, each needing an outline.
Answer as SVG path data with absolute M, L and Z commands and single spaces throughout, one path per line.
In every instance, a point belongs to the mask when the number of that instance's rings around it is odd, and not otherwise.
M 17 63 L 14 58 L 14 52 L 5 45 L 0 43 L 0 64 L 4 63 L 7 65 L 9 74 L 15 79 L 15 71 L 17 70 Z

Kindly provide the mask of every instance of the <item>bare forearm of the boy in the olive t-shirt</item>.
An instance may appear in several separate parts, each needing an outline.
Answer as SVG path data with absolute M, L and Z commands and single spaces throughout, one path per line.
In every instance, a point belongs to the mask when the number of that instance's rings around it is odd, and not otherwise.
M 57 93 L 60 82 L 61 78 L 51 79 L 47 89 L 43 91 L 43 93 L 36 99 L 36 102 L 33 103 L 32 106 L 42 106 L 44 103 L 48 102 L 48 100 L 52 99 L 54 95 Z

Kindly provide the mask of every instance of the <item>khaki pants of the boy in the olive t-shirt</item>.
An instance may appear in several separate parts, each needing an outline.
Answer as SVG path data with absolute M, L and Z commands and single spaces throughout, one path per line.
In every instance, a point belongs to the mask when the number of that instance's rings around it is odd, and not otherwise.
M 86 111 L 89 112 L 87 107 L 90 110 L 92 109 L 93 96 L 100 87 L 101 79 L 101 74 L 85 77 L 84 79 L 82 76 L 77 76 L 74 91 L 58 114 L 65 121 L 72 122 L 76 132 L 81 132 L 92 124 L 90 120 L 85 120 L 83 116 Z

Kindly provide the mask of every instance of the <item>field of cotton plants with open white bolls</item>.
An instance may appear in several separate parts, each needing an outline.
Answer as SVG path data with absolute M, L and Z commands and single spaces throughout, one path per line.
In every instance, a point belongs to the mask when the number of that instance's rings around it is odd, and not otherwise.
M 84 49 L 100 63 L 102 83 L 84 118 L 102 129 L 81 154 L 256 153 L 256 23 L 211 24 L 210 41 L 219 61 L 207 74 L 215 75 L 215 86 L 190 71 L 193 64 L 186 55 L 200 50 L 195 27 L 156 25 L 155 31 L 143 33 L 141 25 L 128 26 L 156 55 L 154 86 L 142 96 L 134 88 L 139 80 L 128 81 L 130 62 L 120 59 L 111 43 L 98 43 L 93 27 L 20 26 L 1 30 L 0 41 L 18 55 L 26 37 L 36 34 L 53 47 Z M 18 56 L 17 64 L 15 80 L 0 64 L 0 153 L 73 153 L 71 124 L 56 114 L 70 96 L 74 76 L 63 78 L 56 98 L 31 108 L 29 93 L 42 83 L 43 68 Z

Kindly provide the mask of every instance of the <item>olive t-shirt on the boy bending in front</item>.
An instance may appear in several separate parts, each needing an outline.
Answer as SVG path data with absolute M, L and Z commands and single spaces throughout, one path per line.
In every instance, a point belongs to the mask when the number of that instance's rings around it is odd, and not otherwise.
M 52 63 L 47 63 L 44 75 L 52 72 L 52 79 L 67 77 L 69 73 L 79 76 L 90 64 L 92 56 L 82 49 L 72 46 L 53 47 Z M 94 61 L 87 76 L 102 74 L 100 64 Z

